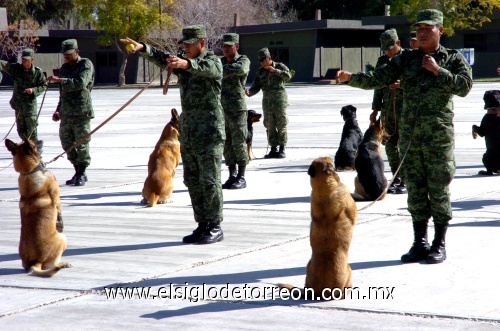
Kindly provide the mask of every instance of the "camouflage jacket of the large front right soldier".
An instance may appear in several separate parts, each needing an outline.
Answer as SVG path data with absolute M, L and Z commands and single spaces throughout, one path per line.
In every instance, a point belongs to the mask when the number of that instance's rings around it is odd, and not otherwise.
M 377 89 L 400 79 L 399 143 L 403 148 L 410 140 L 419 146 L 453 145 L 453 95 L 465 97 L 472 88 L 472 69 L 462 54 L 440 46 L 429 55 L 440 67 L 437 76 L 422 68 L 424 53 L 417 49 L 394 56 L 374 71 L 353 74 L 349 81 L 349 86 Z

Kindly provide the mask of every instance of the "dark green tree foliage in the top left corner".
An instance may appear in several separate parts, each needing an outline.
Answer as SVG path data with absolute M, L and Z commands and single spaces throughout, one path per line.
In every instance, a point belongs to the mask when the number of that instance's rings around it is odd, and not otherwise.
M 61 19 L 74 7 L 73 0 L 0 0 L 0 7 L 7 8 L 9 23 L 33 19 L 39 25 L 49 20 Z

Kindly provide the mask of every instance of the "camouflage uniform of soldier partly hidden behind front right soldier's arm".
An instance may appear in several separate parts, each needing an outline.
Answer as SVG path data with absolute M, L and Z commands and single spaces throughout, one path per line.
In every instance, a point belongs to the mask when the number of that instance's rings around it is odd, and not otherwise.
M 401 51 L 399 54 L 403 52 Z M 382 55 L 378 58 L 375 68 L 381 67 L 389 62 L 390 57 Z M 395 104 L 394 104 L 395 103 Z M 394 174 L 399 166 L 399 153 L 398 153 L 398 119 L 401 117 L 403 109 L 403 90 L 400 88 L 391 89 L 388 86 L 377 89 L 373 92 L 372 109 L 380 110 L 380 118 L 384 125 L 384 131 L 390 135 L 385 143 L 385 153 L 389 166 Z

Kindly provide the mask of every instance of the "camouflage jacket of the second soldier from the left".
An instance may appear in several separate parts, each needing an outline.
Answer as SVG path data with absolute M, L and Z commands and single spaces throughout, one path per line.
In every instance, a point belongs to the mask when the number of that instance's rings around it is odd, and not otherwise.
M 62 79 L 57 110 L 65 117 L 94 118 L 90 92 L 94 86 L 94 65 L 78 56 L 76 63 L 64 63 L 59 69 Z

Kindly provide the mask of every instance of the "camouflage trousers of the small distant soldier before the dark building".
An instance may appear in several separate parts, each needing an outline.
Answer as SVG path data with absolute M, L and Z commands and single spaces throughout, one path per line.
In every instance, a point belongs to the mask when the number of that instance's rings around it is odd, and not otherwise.
M 270 97 L 262 99 L 262 110 L 264 112 L 264 127 L 267 130 L 267 141 L 270 146 L 286 146 L 288 140 L 286 125 L 287 101 L 272 100 Z

